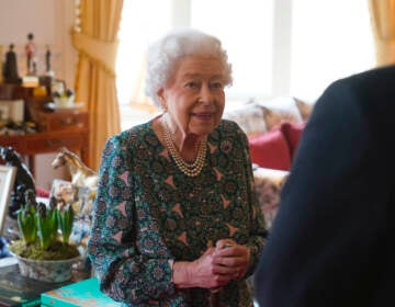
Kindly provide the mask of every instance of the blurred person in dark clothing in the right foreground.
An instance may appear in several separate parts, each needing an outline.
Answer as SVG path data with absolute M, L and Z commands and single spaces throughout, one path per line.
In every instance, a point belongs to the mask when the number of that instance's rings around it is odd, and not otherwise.
M 260 306 L 395 306 L 395 67 L 334 82 L 306 125 L 255 288 Z

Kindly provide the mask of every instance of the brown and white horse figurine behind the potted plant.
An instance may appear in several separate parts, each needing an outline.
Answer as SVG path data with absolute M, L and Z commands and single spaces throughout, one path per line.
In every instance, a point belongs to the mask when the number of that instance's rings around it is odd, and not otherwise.
M 77 186 L 88 186 L 92 190 L 97 189 L 98 173 L 88 168 L 75 152 L 68 150 L 66 147 L 60 148 L 52 162 L 54 169 L 63 166 L 68 167 L 72 184 Z

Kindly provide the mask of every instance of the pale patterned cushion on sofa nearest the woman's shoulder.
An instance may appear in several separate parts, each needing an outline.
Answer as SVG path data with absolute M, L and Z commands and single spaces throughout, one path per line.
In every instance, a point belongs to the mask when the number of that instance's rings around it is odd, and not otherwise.
M 263 110 L 253 102 L 242 103 L 237 107 L 226 110 L 224 118 L 236 122 L 248 138 L 267 132 Z

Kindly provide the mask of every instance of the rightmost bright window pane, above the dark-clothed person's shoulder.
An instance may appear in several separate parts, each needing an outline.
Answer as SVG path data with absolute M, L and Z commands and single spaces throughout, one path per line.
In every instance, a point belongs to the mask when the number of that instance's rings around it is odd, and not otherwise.
M 294 1 L 291 36 L 294 96 L 314 101 L 332 81 L 374 66 L 368 1 Z

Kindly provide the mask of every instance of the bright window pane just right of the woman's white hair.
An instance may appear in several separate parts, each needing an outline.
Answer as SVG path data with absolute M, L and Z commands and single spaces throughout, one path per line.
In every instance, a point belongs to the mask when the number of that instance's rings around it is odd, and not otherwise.
M 228 99 L 271 94 L 272 0 L 192 0 L 191 25 L 221 38 L 233 64 Z

